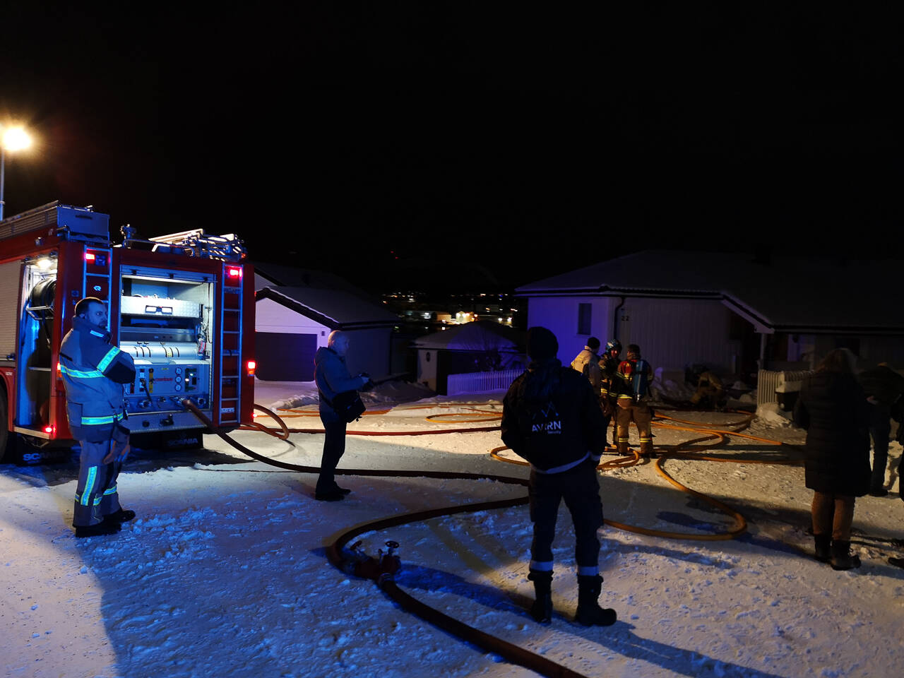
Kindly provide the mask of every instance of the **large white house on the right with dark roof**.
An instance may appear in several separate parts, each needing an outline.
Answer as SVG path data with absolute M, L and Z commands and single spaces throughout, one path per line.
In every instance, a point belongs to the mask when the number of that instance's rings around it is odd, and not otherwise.
M 904 364 L 902 264 L 645 250 L 515 294 L 528 299 L 528 327 L 558 336 L 563 363 L 589 336 L 617 338 L 654 368 L 703 364 L 749 381 L 758 367 L 812 369 L 842 346 L 862 366 Z

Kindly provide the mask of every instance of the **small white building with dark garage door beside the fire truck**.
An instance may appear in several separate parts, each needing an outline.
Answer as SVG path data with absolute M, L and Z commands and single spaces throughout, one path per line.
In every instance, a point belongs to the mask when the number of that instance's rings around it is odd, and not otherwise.
M 255 344 L 258 378 L 312 381 L 314 355 L 333 330 L 351 342 L 352 374 L 379 380 L 391 372 L 392 330 L 399 318 L 380 300 L 332 273 L 255 263 Z

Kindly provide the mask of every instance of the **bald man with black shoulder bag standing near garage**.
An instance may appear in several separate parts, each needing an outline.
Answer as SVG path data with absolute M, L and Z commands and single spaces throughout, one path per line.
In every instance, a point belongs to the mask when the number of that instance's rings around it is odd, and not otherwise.
M 314 497 L 321 502 L 337 502 L 351 490 L 336 485 L 335 470 L 345 452 L 346 422 L 334 409 L 333 400 L 345 391 L 360 391 L 370 381 L 365 374 L 353 377 L 345 367 L 348 353 L 348 334 L 334 330 L 326 340 L 326 346 L 317 349 L 314 356 L 314 380 L 320 395 L 320 420 L 324 424 L 324 454 L 320 461 L 320 476 Z

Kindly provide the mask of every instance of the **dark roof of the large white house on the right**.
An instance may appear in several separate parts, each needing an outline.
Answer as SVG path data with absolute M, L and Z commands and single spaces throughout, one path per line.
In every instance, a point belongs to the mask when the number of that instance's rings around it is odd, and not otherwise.
M 904 261 L 645 250 L 518 287 L 520 297 L 720 299 L 760 332 L 904 333 Z

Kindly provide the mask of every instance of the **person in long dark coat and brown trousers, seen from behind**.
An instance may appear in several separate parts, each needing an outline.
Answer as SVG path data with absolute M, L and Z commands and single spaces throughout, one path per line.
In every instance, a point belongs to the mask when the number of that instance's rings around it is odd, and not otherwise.
M 860 566 L 850 553 L 853 506 L 870 491 L 870 413 L 853 363 L 847 349 L 826 355 L 802 384 L 794 410 L 796 425 L 806 428 L 815 556 L 835 570 Z

